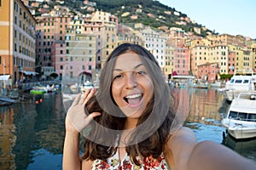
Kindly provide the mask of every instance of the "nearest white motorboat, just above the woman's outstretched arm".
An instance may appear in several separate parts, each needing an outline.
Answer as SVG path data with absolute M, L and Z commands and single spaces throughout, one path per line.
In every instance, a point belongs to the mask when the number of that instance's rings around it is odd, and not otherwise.
M 256 93 L 240 93 L 233 99 L 222 124 L 235 139 L 256 137 Z

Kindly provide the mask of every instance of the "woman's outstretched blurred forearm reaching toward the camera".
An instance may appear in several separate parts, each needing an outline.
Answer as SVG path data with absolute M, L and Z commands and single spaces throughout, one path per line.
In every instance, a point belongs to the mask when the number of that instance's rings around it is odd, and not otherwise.
M 249 160 L 222 144 L 203 141 L 195 145 L 188 167 L 190 170 L 253 170 L 256 161 Z

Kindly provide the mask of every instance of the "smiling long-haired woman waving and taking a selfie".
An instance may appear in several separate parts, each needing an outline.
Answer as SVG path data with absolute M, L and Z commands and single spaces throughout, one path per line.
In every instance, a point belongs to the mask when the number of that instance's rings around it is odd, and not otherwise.
M 253 169 L 255 162 L 211 141 L 197 143 L 153 54 L 123 43 L 100 85 L 67 111 L 63 169 Z M 84 136 L 80 157 L 79 133 Z

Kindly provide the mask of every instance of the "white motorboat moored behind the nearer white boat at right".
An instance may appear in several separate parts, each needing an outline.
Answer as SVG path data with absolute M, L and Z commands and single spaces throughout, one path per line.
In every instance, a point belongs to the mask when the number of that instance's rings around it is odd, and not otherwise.
M 243 92 L 255 92 L 256 75 L 253 71 L 244 71 L 245 74 L 235 71 L 229 82 L 226 82 L 225 88 L 220 88 L 219 91 L 224 94 L 225 99 L 231 102 L 238 94 Z M 249 73 L 248 73 L 249 72 Z

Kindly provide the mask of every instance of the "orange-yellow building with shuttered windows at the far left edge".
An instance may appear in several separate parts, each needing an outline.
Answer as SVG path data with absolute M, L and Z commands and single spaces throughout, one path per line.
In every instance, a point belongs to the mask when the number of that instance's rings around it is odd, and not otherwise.
M 36 20 L 20 0 L 0 4 L 0 74 L 13 81 L 35 75 Z

